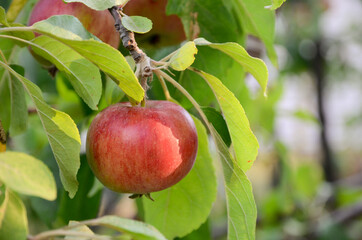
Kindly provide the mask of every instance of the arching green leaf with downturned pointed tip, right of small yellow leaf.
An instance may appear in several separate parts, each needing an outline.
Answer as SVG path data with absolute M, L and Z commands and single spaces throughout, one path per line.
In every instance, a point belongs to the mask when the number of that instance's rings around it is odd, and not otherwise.
M 203 38 L 195 39 L 194 42 L 200 46 L 207 45 L 211 48 L 218 49 L 232 57 L 242 65 L 247 72 L 255 77 L 263 89 L 264 95 L 266 95 L 268 68 L 261 59 L 250 56 L 248 52 L 237 43 L 211 43 Z

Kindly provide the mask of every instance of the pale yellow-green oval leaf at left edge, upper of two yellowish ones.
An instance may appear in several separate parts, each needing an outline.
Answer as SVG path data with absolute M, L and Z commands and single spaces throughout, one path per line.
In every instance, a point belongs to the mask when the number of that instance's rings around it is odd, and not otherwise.
M 49 168 L 24 153 L 0 153 L 0 180 L 18 193 L 47 200 L 54 200 L 57 195 L 55 180 Z

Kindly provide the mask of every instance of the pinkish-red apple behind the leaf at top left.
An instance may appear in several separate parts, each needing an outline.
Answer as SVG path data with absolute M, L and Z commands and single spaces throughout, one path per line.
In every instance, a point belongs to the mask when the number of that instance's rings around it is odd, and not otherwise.
M 114 27 L 114 19 L 108 10 L 96 11 L 83 3 L 64 3 L 62 0 L 40 0 L 33 8 L 28 25 L 48 19 L 54 15 L 73 15 L 93 35 L 114 48 L 118 48 L 120 37 Z

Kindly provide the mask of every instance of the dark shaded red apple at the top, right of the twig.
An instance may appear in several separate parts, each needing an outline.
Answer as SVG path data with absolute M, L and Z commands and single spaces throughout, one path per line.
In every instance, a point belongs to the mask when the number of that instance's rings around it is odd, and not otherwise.
M 152 30 L 138 34 L 137 42 L 143 48 L 158 48 L 180 44 L 186 40 L 181 19 L 177 15 L 166 15 L 167 0 L 130 0 L 124 7 L 129 16 L 151 19 Z

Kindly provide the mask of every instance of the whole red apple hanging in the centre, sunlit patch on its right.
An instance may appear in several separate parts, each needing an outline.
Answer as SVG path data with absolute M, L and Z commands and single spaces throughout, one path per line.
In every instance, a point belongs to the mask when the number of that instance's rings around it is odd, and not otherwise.
M 145 107 L 117 103 L 100 112 L 87 134 L 95 176 L 109 189 L 147 194 L 184 178 L 194 165 L 197 131 L 189 113 L 168 101 Z

